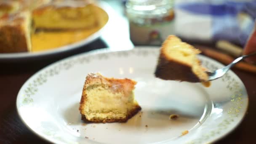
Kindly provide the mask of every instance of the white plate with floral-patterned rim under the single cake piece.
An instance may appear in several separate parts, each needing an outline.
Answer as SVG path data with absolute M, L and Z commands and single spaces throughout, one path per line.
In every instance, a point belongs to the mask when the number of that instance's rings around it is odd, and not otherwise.
M 229 71 L 210 88 L 200 83 L 165 81 L 154 77 L 159 49 L 107 49 L 58 61 L 37 72 L 22 86 L 17 109 L 24 123 L 53 143 L 206 143 L 231 132 L 243 119 L 248 96 L 242 81 Z M 222 64 L 199 56 L 209 69 Z M 127 123 L 84 124 L 78 110 L 85 76 L 135 79 L 142 112 Z M 177 120 L 169 120 L 176 114 Z M 148 125 L 148 127 L 146 127 Z M 188 130 L 187 135 L 181 133 Z

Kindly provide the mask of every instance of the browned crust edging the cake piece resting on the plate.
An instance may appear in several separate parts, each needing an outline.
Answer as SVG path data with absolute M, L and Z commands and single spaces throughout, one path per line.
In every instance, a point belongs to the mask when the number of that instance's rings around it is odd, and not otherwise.
M 126 122 L 128 119 L 130 119 L 131 117 L 133 117 L 134 115 L 136 115 L 140 110 L 141 110 L 141 107 L 139 106 L 139 104 L 134 104 L 134 108 L 128 112 L 128 114 L 126 115 L 125 118 L 112 118 L 112 119 L 104 119 L 104 120 L 99 120 L 97 118 L 94 118 L 92 120 L 88 120 L 86 118 L 85 115 L 82 114 L 82 109 L 83 107 L 85 107 L 85 103 L 87 101 L 87 94 L 86 94 L 86 88 L 89 86 L 89 85 L 92 85 L 92 84 L 107 84 L 107 85 L 111 85 L 111 84 L 115 84 L 115 83 L 121 83 L 121 84 L 126 84 L 125 86 L 127 86 L 127 88 L 129 89 L 134 89 L 134 85 L 136 85 L 136 81 L 134 80 L 131 80 L 131 79 L 128 79 L 128 78 L 125 78 L 125 79 L 115 79 L 115 78 L 108 78 L 108 77 L 104 77 L 102 75 L 98 75 L 98 74 L 93 74 L 93 73 L 89 73 L 87 76 L 86 76 L 86 80 L 85 80 L 85 83 L 84 83 L 84 86 L 83 86 L 83 93 L 82 93 L 82 97 L 81 97 L 81 100 L 80 100 L 80 107 L 79 107 L 79 110 L 80 110 L 80 114 L 81 114 L 81 120 L 87 122 L 87 123 L 114 123 L 114 122 Z

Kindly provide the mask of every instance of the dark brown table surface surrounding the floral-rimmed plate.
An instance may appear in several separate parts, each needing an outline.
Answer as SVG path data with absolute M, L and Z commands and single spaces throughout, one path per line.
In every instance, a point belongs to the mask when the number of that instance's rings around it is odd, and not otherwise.
M 47 143 L 40 139 L 21 122 L 16 110 L 16 96 L 24 82 L 41 68 L 59 59 L 89 51 L 96 48 L 105 48 L 107 45 L 98 39 L 90 45 L 76 51 L 55 56 L 51 59 L 37 61 L 19 61 L 15 63 L 0 63 L 0 144 L 28 144 Z M 243 122 L 228 136 L 217 143 L 251 143 L 254 141 L 256 124 L 256 75 L 237 69 L 233 71 L 245 84 L 249 96 L 249 108 Z

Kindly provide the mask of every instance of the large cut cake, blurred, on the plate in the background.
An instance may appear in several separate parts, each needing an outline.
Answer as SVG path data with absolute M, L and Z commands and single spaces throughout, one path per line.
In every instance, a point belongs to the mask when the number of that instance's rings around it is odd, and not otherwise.
M 31 51 L 37 29 L 90 29 L 98 20 L 91 0 L 0 0 L 0 53 Z

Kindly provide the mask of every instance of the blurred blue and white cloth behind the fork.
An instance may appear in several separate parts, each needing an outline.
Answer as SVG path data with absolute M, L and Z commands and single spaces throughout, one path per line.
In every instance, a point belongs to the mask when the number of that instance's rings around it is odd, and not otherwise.
M 176 1 L 176 35 L 187 39 L 228 40 L 243 46 L 255 26 L 256 0 Z

